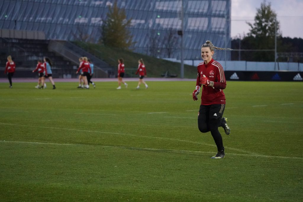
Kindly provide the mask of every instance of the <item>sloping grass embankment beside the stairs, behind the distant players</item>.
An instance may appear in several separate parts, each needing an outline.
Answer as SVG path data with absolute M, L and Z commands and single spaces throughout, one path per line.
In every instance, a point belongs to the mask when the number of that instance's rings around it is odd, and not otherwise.
M 171 62 L 148 55 L 145 53 L 135 53 L 121 48 L 112 48 L 104 45 L 90 44 L 83 42 L 75 42 L 76 45 L 92 53 L 98 58 L 108 63 L 114 68 L 118 68 L 118 59 L 124 58 L 125 73 L 128 77 L 136 77 L 135 72 L 138 68 L 138 60 L 142 58 L 144 60 L 147 75 L 149 77 L 161 77 L 168 71 L 170 74 L 175 74 L 180 77 L 180 63 Z M 197 56 L 200 52 L 197 52 Z M 185 78 L 196 78 L 197 68 L 195 66 L 184 65 Z

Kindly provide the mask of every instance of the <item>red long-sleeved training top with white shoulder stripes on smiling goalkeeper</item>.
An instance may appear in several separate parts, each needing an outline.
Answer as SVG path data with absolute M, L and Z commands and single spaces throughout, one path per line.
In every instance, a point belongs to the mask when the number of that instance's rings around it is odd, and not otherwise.
M 200 78 L 203 77 L 203 75 L 205 75 L 209 81 L 214 81 L 214 88 L 203 85 L 201 104 L 225 104 L 225 94 L 223 93 L 223 89 L 226 87 L 226 80 L 220 63 L 211 59 L 211 61 L 205 65 L 203 61 L 198 64 L 197 70 L 198 77 L 196 85 L 201 86 L 199 83 Z

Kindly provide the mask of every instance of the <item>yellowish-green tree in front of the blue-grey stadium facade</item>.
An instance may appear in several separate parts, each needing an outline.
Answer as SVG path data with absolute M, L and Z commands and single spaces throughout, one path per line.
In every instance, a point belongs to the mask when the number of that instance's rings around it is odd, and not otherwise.
M 132 41 L 133 36 L 128 30 L 132 19 L 126 19 L 125 9 L 118 8 L 117 1 L 111 6 L 107 13 L 107 19 L 102 24 L 101 41 L 104 45 L 127 48 L 135 45 Z

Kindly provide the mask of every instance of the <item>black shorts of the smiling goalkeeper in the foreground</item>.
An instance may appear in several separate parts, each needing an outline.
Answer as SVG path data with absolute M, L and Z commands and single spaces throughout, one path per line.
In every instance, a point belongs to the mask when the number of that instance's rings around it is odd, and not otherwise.
M 220 118 L 221 120 L 224 109 L 225 104 L 200 105 L 198 119 L 203 119 L 206 122 L 208 122 L 210 118 Z

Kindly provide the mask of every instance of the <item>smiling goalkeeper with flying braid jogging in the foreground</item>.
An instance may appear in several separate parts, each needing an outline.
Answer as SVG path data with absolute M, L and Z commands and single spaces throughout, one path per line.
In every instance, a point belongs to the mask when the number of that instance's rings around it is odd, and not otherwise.
M 202 133 L 211 132 L 218 148 L 218 153 L 211 158 L 224 158 L 224 147 L 222 136 L 218 130 L 221 126 L 227 135 L 230 128 L 227 119 L 222 117 L 225 109 L 226 80 L 222 66 L 215 61 L 212 56 L 215 49 L 226 49 L 215 47 L 211 41 L 206 41 L 201 47 L 201 57 L 203 62 L 198 64 L 198 77 L 196 89 L 192 93 L 194 100 L 198 100 L 197 95 L 202 87 L 201 105 L 198 114 L 198 128 Z

